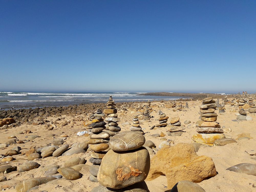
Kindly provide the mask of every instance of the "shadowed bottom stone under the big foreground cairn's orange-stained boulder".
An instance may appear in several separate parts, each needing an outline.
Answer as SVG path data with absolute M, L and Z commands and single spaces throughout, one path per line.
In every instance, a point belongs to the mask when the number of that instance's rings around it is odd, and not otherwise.
M 147 188 L 147 184 L 144 181 L 130 185 L 122 189 L 111 189 L 109 187 L 104 187 L 102 185 L 99 185 L 97 187 L 94 187 L 91 192 L 103 192 L 103 191 L 104 192 L 149 192 Z

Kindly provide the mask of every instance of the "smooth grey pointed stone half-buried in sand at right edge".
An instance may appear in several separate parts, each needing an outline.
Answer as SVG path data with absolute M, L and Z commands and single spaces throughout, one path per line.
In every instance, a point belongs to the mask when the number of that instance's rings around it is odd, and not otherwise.
M 232 167 L 229 167 L 226 170 L 256 176 L 256 165 L 252 163 L 240 163 Z

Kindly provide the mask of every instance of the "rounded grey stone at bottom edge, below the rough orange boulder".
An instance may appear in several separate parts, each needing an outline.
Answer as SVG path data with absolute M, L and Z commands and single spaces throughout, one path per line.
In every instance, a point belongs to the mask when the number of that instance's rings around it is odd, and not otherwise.
M 198 184 L 191 181 L 179 181 L 169 192 L 205 192 L 205 190 Z

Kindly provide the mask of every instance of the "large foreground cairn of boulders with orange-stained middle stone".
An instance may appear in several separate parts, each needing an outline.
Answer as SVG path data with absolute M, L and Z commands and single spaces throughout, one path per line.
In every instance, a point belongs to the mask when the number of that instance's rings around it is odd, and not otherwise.
M 98 172 L 100 185 L 91 192 L 148 192 L 144 180 L 150 169 L 150 155 L 143 144 L 145 137 L 124 131 L 110 138 L 110 150 L 103 157 Z

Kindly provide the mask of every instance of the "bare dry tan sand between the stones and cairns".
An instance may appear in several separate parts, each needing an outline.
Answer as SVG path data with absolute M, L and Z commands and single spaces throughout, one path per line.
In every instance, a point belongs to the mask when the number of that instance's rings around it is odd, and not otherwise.
M 145 103 L 144 103 L 145 104 Z M 196 134 L 196 125 L 195 122 L 198 121 L 198 111 L 199 111 L 199 105 L 201 104 L 201 101 L 189 101 L 189 109 L 186 109 L 187 111 L 172 111 L 173 108 L 167 109 L 165 106 L 167 103 L 160 103 L 160 102 L 152 102 L 151 107 L 153 108 L 153 112 L 151 113 L 154 118 L 152 118 L 151 122 L 145 122 L 144 120 L 140 120 L 141 127 L 143 128 L 143 131 L 145 132 L 146 140 L 151 140 L 155 143 L 155 145 L 158 147 L 158 145 L 162 142 L 160 139 L 162 137 L 153 137 L 152 134 L 160 133 L 161 131 L 166 134 L 166 139 L 172 139 L 174 141 L 174 144 L 177 143 L 191 143 L 192 139 L 191 136 L 193 134 Z M 143 104 L 134 104 L 134 106 L 137 105 L 143 105 Z M 185 102 L 184 104 L 185 105 Z M 218 114 L 217 122 L 220 123 L 221 126 L 226 126 L 226 128 L 231 128 L 232 132 L 225 133 L 226 137 L 228 138 L 234 138 L 237 140 L 237 143 L 228 144 L 225 146 L 213 146 L 213 147 L 200 147 L 199 151 L 197 152 L 198 155 L 206 155 L 213 159 L 218 174 L 215 177 L 209 178 L 207 180 L 204 180 L 200 183 L 198 183 L 202 188 L 205 189 L 205 191 L 214 191 L 214 192 L 222 192 L 222 191 L 256 191 L 256 176 L 253 175 L 247 175 L 247 174 L 241 174 L 241 173 L 235 173 L 231 172 L 229 170 L 226 170 L 228 167 L 239 164 L 239 163 L 253 163 L 256 164 L 255 159 L 251 159 L 251 157 L 256 156 L 250 156 L 248 153 L 245 152 L 247 148 L 256 148 L 256 116 L 252 116 L 254 121 L 239 121 L 234 122 L 231 120 L 236 119 L 235 113 L 238 112 L 238 107 L 231 105 L 225 105 L 226 112 L 223 114 Z M 128 108 L 127 111 L 119 110 L 118 108 L 118 116 L 120 117 L 121 121 L 119 122 L 119 126 L 122 128 L 122 131 L 129 130 L 131 125 L 124 125 L 121 124 L 124 122 L 132 122 L 133 115 L 137 112 L 136 107 L 134 108 Z M 232 109 L 235 109 L 236 112 L 231 112 Z M 153 125 L 156 125 L 158 123 L 158 115 L 157 112 L 159 110 L 162 110 L 164 113 L 166 113 L 169 118 L 173 117 L 179 117 L 182 124 L 184 124 L 185 120 L 190 120 L 191 123 L 186 125 L 186 131 L 182 134 L 182 136 L 168 136 L 167 135 L 167 127 L 159 128 L 150 130 L 150 127 Z M 142 112 L 142 111 L 141 111 Z M 56 134 L 55 138 L 58 138 L 61 134 L 67 134 L 69 137 L 67 137 L 67 140 L 65 140 L 65 143 L 72 145 L 73 143 L 77 142 L 83 142 L 88 139 L 86 136 L 77 136 L 76 133 L 79 131 L 82 131 L 85 129 L 83 126 L 83 121 L 77 121 L 81 119 L 86 119 L 87 116 L 84 115 L 63 115 L 62 117 L 65 117 L 66 119 L 71 120 L 71 122 L 75 122 L 75 124 L 68 124 L 66 126 L 59 126 L 57 125 L 57 128 L 54 130 L 48 131 L 46 130 L 45 125 L 27 125 L 22 124 L 18 127 L 13 127 L 11 129 L 7 130 L 0 130 L 0 139 L 3 143 L 4 141 L 8 140 L 7 137 L 11 135 L 17 136 L 19 140 L 25 139 L 25 136 L 27 135 L 39 135 L 41 137 L 36 138 L 34 142 L 28 142 L 25 144 L 13 144 L 8 146 L 5 149 L 0 150 L 0 154 L 5 154 L 8 150 L 12 149 L 15 146 L 22 147 L 21 152 L 27 151 L 32 146 L 40 146 L 41 144 L 49 144 L 52 143 L 54 137 L 49 137 L 49 134 Z M 49 121 L 55 121 L 57 118 L 60 117 L 48 117 L 47 120 Z M 63 120 L 60 120 L 58 122 L 62 122 Z M 18 131 L 25 131 L 25 130 L 31 130 L 32 133 L 30 134 L 16 134 Z M 239 134 L 249 134 L 250 139 L 241 139 L 238 140 Z M 84 154 L 74 154 L 72 156 L 60 156 L 60 157 L 47 157 L 43 159 L 35 159 L 37 163 L 39 163 L 41 166 L 37 169 L 30 170 L 28 172 L 21 172 L 18 173 L 17 171 L 11 172 L 9 174 L 2 174 L 0 173 L 0 176 L 5 175 L 7 179 L 29 179 L 33 177 L 42 177 L 44 175 L 44 167 L 51 165 L 51 164 L 58 164 L 63 165 L 65 161 L 72 157 L 84 157 L 87 159 L 86 164 L 92 165 L 89 162 L 90 158 L 90 152 L 86 152 Z M 26 155 L 15 155 L 14 156 L 17 160 L 9 162 L 9 163 L 0 163 L 0 166 L 2 165 L 13 165 L 13 166 L 19 166 L 22 163 L 26 162 L 27 156 Z M 89 169 L 84 168 L 81 173 L 83 174 L 83 177 L 78 180 L 67 180 L 65 178 L 53 180 L 48 182 L 47 184 L 42 184 L 39 186 L 38 189 L 33 191 L 91 191 L 91 189 L 95 186 L 98 186 L 99 183 L 93 183 L 88 180 L 88 177 L 90 175 Z M 165 186 L 167 186 L 166 178 L 165 176 L 160 176 L 152 181 L 146 181 L 147 186 L 150 191 L 154 192 L 163 192 L 167 190 Z M 7 189 L 6 191 L 14 191 L 13 188 Z

